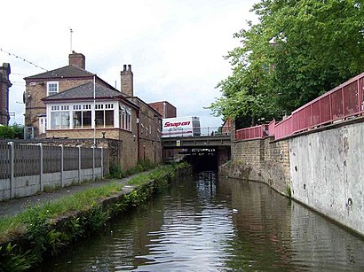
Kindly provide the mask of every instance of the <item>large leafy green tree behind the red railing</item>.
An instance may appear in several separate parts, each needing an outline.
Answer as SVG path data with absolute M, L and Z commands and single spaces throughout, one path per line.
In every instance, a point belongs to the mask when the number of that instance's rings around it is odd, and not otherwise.
M 209 107 L 238 128 L 279 120 L 363 72 L 362 1 L 261 0 L 252 12 L 258 22 L 234 34 L 233 73 Z

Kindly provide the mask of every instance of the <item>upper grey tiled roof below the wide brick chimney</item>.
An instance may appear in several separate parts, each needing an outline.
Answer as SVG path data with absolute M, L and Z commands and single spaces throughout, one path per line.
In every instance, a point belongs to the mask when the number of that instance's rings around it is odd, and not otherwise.
M 25 80 L 32 79 L 51 79 L 51 78 L 69 78 L 69 77 L 83 77 L 92 76 L 94 74 L 83 70 L 77 66 L 64 66 L 55 70 L 51 70 L 42 74 L 31 75 L 25 78 Z

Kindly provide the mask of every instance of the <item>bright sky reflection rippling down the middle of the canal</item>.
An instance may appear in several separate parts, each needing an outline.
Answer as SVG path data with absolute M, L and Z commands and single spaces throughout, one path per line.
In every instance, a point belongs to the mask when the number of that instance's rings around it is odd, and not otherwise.
M 149 253 L 137 258 L 145 262 L 136 270 L 224 270 L 229 258 L 227 241 L 233 240 L 232 211 L 215 205 L 216 174 L 205 172 L 199 182 L 179 184 L 189 194 L 164 198 L 161 229 L 150 232 Z M 188 187 L 188 188 L 187 188 Z M 191 196 L 194 195 L 194 198 Z

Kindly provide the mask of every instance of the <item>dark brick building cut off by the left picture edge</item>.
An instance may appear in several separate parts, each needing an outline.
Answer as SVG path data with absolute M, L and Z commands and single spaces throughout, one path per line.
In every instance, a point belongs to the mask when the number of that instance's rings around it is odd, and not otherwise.
M 9 125 L 9 88 L 12 83 L 9 80 L 11 73 L 10 64 L 4 63 L 0 66 L 0 125 Z

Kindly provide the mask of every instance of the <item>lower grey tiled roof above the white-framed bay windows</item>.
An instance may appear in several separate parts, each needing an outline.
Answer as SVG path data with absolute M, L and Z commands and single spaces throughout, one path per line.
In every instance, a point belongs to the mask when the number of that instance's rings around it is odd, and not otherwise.
M 103 85 L 96 84 L 95 88 L 96 98 L 114 98 L 123 97 L 122 93 L 115 90 L 109 89 Z M 89 82 L 72 89 L 61 91 L 57 94 L 45 97 L 44 101 L 54 100 L 69 100 L 69 99 L 92 99 L 93 98 L 93 82 Z

